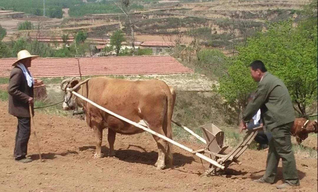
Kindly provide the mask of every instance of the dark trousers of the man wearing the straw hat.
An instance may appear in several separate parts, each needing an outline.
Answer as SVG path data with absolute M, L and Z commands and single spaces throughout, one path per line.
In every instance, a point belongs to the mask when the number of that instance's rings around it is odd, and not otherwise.
M 13 157 L 16 160 L 25 158 L 28 151 L 28 142 L 31 134 L 31 118 L 17 117 L 18 126 Z

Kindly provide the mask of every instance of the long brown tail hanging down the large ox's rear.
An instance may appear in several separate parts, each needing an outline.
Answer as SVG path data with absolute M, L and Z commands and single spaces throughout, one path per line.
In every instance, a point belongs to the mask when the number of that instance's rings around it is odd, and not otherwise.
M 171 128 L 171 118 L 172 118 L 172 113 L 173 113 L 173 103 L 172 103 L 172 94 L 170 92 L 169 87 L 167 86 L 169 91 L 166 91 L 166 96 L 167 96 L 167 132 L 166 132 L 166 137 L 169 139 L 172 139 L 172 128 Z M 170 142 L 167 142 L 167 164 L 169 166 L 172 166 L 172 144 Z

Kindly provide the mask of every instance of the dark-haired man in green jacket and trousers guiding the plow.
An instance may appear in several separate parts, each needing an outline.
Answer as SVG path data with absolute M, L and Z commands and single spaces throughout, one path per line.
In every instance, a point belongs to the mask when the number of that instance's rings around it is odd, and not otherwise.
M 287 87 L 279 78 L 266 71 L 262 61 L 253 61 L 250 70 L 252 78 L 259 85 L 254 98 L 243 112 L 241 131 L 246 129 L 246 123 L 260 109 L 263 127 L 273 135 L 269 143 L 266 172 L 255 181 L 273 184 L 281 158 L 285 183 L 278 185 L 277 189 L 298 186 L 300 183 L 290 134 L 295 114 Z

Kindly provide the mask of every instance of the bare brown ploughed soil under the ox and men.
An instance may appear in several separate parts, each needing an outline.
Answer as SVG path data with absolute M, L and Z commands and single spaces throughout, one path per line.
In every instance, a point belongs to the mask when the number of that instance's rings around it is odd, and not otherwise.
M 13 161 L 16 118 L 0 102 L 0 188 L 1 191 L 275 191 L 275 185 L 256 184 L 252 179 L 264 174 L 266 152 L 247 150 L 242 165 L 232 165 L 228 175 L 200 178 L 198 158 L 174 147 L 173 169 L 156 170 L 156 143 L 150 134 L 117 135 L 116 156 L 93 159 L 93 132 L 84 121 L 36 113 L 37 136 L 42 157 L 38 160 L 31 135 L 28 164 Z M 203 145 L 182 142 L 200 148 Z M 107 130 L 103 153 L 108 152 Z M 308 166 L 304 167 L 301 164 Z M 205 164 L 207 166 L 207 164 Z M 301 186 L 282 191 L 317 191 L 317 160 L 297 157 Z M 281 164 L 277 184 L 282 183 Z

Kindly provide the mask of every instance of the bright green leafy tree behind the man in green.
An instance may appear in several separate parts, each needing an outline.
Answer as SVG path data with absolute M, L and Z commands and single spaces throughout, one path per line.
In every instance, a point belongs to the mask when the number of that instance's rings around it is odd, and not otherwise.
M 238 50 L 240 54 L 230 60 L 228 74 L 220 81 L 219 92 L 228 102 L 244 105 L 241 99 L 256 88 L 248 65 L 260 59 L 285 83 L 298 115 L 308 117 L 306 109 L 317 99 L 317 26 L 300 31 L 292 20 L 273 23 Z

